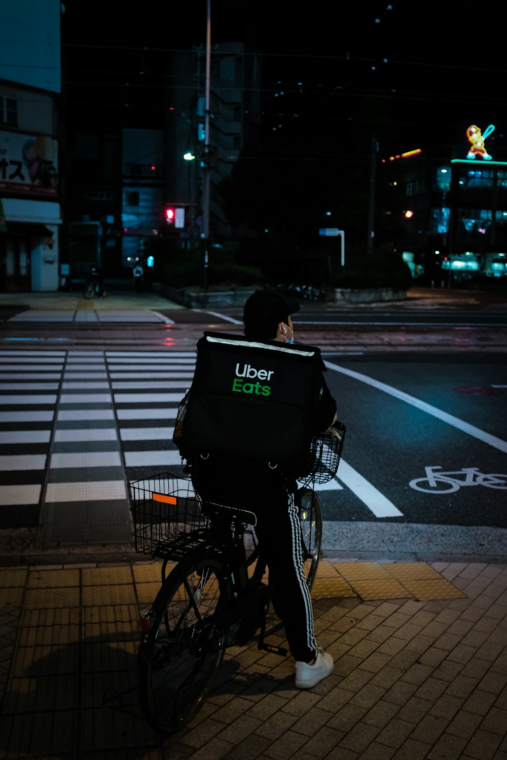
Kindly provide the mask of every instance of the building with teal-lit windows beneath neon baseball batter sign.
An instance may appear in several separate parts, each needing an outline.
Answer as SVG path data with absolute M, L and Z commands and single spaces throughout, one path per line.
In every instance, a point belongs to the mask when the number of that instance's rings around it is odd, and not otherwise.
M 403 217 L 397 247 L 414 275 L 448 287 L 505 276 L 507 162 L 501 149 L 484 156 L 466 140 L 428 147 L 391 157 L 388 175 L 382 213 Z

